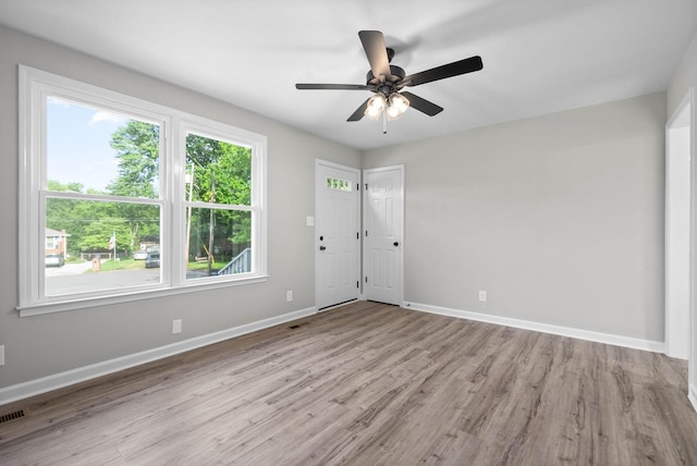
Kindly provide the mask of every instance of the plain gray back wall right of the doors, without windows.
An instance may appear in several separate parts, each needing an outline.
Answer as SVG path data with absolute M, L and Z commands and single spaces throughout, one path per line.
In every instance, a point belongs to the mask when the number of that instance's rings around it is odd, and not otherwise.
M 663 341 L 664 124 L 661 93 L 365 152 L 406 165 L 405 299 Z

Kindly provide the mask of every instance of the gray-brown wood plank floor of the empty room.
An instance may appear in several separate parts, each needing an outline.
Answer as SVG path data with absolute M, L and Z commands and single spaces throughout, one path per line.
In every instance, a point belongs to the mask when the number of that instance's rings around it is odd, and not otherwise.
M 299 324 L 296 329 L 290 329 Z M 2 465 L 697 465 L 684 361 L 357 303 L 0 406 Z

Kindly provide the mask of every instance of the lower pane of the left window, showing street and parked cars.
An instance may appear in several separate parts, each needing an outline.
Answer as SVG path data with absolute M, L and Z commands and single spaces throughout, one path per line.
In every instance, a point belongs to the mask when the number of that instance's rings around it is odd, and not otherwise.
M 49 197 L 46 226 L 46 296 L 160 282 L 159 206 Z

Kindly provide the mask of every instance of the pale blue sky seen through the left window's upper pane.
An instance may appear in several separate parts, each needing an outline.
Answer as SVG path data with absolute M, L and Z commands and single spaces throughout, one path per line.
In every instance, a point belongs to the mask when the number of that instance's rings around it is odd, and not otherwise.
M 47 105 L 47 179 L 103 191 L 118 175 L 111 135 L 129 120 L 50 98 Z

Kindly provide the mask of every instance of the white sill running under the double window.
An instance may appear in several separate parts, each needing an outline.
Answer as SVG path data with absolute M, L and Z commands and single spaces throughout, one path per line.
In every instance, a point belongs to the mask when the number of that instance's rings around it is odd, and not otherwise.
M 105 295 L 100 297 L 89 297 L 82 299 L 61 301 L 53 303 L 36 304 L 30 306 L 17 307 L 20 317 L 41 316 L 45 314 L 63 312 L 66 310 L 86 309 L 97 306 L 109 306 L 114 304 L 131 303 L 143 299 L 152 299 L 166 296 L 175 296 L 180 294 L 198 293 L 208 290 L 219 290 L 229 286 L 241 286 L 255 283 L 267 282 L 269 275 L 256 275 L 240 280 L 229 280 L 224 282 L 207 282 L 207 283 L 192 283 L 181 287 L 167 287 L 158 290 L 147 291 L 133 291 L 131 293 L 123 293 L 123 291 L 114 290 L 113 295 Z M 119 293 L 119 294 L 115 294 Z

